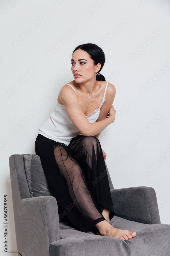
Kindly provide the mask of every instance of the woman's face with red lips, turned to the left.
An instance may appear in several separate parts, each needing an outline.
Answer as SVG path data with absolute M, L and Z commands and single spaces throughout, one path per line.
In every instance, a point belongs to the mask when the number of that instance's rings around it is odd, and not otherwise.
M 95 77 L 94 62 L 86 51 L 76 50 L 72 55 L 71 63 L 71 71 L 76 83 L 82 83 Z

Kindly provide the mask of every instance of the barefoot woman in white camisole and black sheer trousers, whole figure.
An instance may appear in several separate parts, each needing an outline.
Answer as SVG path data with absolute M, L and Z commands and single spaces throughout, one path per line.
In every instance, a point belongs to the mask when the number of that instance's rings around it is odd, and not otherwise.
M 113 205 L 106 154 L 98 137 L 115 120 L 116 89 L 99 73 L 104 62 L 104 52 L 95 44 L 75 48 L 74 80 L 60 90 L 57 107 L 39 129 L 35 152 L 57 200 L 60 220 L 84 232 L 128 240 L 136 232 L 109 223 L 114 211 L 109 211 Z

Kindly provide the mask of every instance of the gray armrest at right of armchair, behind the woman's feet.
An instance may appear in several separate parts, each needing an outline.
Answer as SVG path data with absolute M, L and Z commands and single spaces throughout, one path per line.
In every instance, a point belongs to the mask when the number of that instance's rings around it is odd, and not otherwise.
M 152 187 L 112 189 L 115 216 L 146 224 L 161 223 L 155 190 Z

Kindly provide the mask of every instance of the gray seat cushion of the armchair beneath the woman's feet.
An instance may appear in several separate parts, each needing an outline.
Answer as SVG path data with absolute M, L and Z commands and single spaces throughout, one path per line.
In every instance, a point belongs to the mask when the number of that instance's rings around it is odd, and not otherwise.
M 143 224 L 114 216 L 115 228 L 135 231 L 129 240 L 98 236 L 60 225 L 61 240 L 50 244 L 50 256 L 169 256 L 170 225 Z

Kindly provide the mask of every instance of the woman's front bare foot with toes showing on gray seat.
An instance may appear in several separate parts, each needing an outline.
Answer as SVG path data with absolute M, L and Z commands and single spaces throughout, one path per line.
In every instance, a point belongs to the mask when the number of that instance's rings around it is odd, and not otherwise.
M 101 236 L 115 237 L 122 240 L 129 240 L 136 236 L 136 232 L 130 232 L 127 229 L 114 228 L 106 220 L 97 223 L 95 227 L 99 230 L 96 234 Z

